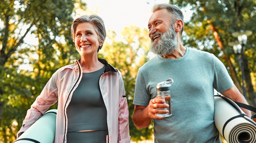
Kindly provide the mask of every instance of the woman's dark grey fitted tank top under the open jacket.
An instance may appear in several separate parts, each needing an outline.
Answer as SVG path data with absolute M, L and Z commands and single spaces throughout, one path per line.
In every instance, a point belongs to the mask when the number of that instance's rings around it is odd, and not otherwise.
M 107 130 L 107 111 L 99 89 L 99 77 L 104 70 L 105 66 L 83 73 L 67 107 L 68 132 Z

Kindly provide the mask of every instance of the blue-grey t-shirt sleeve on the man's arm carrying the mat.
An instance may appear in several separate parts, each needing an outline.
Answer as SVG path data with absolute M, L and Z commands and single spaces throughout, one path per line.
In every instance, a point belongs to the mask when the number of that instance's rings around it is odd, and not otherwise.
M 213 87 L 218 92 L 226 91 L 234 85 L 224 64 L 214 56 L 214 83 Z

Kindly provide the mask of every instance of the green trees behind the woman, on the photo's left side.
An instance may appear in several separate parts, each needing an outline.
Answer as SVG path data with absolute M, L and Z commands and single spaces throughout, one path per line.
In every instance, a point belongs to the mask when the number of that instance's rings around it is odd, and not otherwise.
M 16 138 L 53 72 L 78 55 L 69 31 L 75 8 L 85 6 L 81 0 L 1 0 L 0 141 Z

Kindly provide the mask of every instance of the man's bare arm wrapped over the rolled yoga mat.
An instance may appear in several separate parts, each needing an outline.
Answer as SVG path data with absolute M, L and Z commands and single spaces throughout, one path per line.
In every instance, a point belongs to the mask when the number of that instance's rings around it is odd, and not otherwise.
M 244 104 L 248 105 L 244 96 L 239 92 L 239 90 L 237 89 L 237 87 L 235 85 L 233 85 L 233 87 L 227 89 L 226 91 L 221 92 L 221 94 L 233 101 L 244 103 Z M 241 108 L 241 109 L 245 112 L 245 114 L 247 116 L 251 117 L 251 112 L 249 110 L 246 110 L 244 108 Z

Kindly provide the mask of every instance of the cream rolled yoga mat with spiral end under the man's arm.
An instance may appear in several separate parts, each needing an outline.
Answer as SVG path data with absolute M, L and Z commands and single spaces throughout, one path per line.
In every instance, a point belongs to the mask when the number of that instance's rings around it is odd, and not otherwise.
M 256 123 L 224 96 L 214 97 L 214 123 L 228 143 L 255 143 Z

